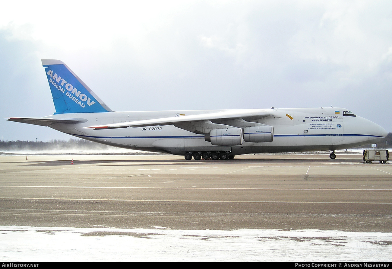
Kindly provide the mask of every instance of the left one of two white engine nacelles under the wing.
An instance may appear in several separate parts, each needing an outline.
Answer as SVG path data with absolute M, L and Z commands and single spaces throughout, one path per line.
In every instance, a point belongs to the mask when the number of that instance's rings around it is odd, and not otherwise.
M 242 145 L 242 129 L 213 129 L 204 135 L 204 140 L 216 146 L 238 146 Z

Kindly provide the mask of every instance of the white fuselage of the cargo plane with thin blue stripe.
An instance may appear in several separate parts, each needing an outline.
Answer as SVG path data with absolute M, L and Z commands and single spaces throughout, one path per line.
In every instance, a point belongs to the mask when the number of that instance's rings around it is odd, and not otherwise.
M 340 113 L 336 111 L 339 110 Z M 98 143 L 184 155 L 185 152 L 227 151 L 234 155 L 262 152 L 294 152 L 337 150 L 376 143 L 386 131 L 376 123 L 358 116 L 343 116 L 344 108 L 288 108 L 265 109 L 270 116 L 255 122 L 274 127 L 273 141 L 238 146 L 215 146 L 205 141 L 203 134 L 195 134 L 173 125 L 128 127 L 94 130 L 83 127 L 125 123 L 147 119 L 200 115 L 227 110 L 143 111 L 63 113 L 56 118 L 80 119 L 77 124 L 55 123 L 50 127 Z M 53 117 L 53 116 L 48 116 Z

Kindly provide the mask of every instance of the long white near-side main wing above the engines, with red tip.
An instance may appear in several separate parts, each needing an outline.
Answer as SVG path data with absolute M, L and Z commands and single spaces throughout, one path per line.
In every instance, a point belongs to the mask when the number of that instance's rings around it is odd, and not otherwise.
M 126 123 L 113 123 L 107 125 L 95 125 L 84 128 L 93 128 L 94 130 L 127 128 L 127 127 L 144 127 L 156 125 L 171 125 L 175 123 L 191 123 L 199 121 L 229 121 L 233 119 L 243 119 L 245 121 L 261 119 L 268 117 L 269 112 L 264 110 L 246 109 L 246 110 L 228 110 L 216 113 L 185 115 L 179 117 L 166 117 L 160 119 L 147 119 L 142 121 L 131 121 Z

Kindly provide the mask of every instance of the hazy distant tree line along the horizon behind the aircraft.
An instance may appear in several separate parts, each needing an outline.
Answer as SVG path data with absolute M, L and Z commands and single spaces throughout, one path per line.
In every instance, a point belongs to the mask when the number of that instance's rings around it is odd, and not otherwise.
M 66 140 L 50 140 L 43 141 L 0 141 L 0 150 L 108 150 L 112 146 L 88 141 L 85 139 L 71 138 Z M 361 148 L 372 148 L 372 145 L 363 146 Z M 392 132 L 387 134 L 385 142 L 378 143 L 376 148 L 392 148 Z

